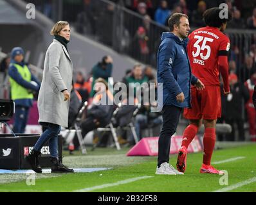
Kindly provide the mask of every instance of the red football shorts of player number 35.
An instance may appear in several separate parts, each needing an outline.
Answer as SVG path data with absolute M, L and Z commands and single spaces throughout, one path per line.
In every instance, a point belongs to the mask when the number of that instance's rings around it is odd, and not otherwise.
M 204 90 L 191 88 L 192 108 L 184 109 L 184 117 L 189 120 L 215 120 L 221 117 L 221 88 L 217 85 L 205 85 Z

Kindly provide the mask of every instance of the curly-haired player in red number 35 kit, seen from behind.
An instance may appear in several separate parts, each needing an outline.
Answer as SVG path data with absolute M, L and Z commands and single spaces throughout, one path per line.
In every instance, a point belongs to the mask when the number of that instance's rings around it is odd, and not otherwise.
M 226 29 L 226 22 L 231 15 L 228 11 L 228 19 L 221 18 L 221 8 L 210 8 L 203 14 L 206 27 L 193 31 L 189 36 L 187 45 L 188 58 L 192 68 L 192 74 L 205 85 L 204 90 L 191 88 L 192 109 L 184 110 L 184 117 L 190 120 L 189 126 L 183 133 L 181 149 L 179 149 L 177 169 L 185 172 L 187 160 L 187 148 L 196 136 L 203 123 L 205 133 L 203 137 L 203 165 L 201 173 L 222 174 L 221 171 L 210 165 L 212 152 L 215 145 L 215 126 L 217 118 L 221 117 L 221 89 L 219 73 L 223 78 L 224 94 L 230 92 L 228 82 L 228 50 L 230 40 L 221 31 Z

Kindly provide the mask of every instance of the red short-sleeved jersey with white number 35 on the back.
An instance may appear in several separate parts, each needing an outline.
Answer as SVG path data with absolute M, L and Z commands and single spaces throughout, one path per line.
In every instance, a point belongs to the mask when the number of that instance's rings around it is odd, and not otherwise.
M 228 53 L 229 38 L 210 26 L 196 29 L 188 38 L 187 50 L 192 74 L 205 85 L 219 85 L 218 56 Z

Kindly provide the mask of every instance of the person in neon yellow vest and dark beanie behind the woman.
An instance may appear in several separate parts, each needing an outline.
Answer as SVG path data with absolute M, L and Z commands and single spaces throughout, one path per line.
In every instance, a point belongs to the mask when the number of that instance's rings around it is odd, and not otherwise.
M 8 69 L 11 95 L 15 102 L 14 133 L 24 133 L 29 110 L 33 105 L 33 92 L 38 92 L 41 85 L 23 59 L 23 49 L 14 47 Z

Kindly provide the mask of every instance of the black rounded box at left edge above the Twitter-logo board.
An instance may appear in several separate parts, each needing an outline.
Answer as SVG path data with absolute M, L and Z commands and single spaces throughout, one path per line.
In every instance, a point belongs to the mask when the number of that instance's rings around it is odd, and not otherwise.
M 14 115 L 14 101 L 10 99 L 0 99 L 0 122 L 7 122 Z

